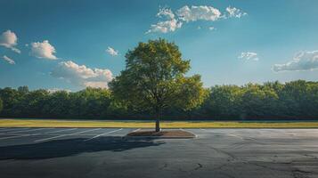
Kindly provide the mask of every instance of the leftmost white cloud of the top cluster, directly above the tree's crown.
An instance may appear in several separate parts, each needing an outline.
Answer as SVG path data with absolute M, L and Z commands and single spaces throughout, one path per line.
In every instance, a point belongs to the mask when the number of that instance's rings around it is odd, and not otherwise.
M 167 33 L 173 32 L 177 28 L 181 28 L 183 23 L 175 19 L 175 14 L 170 9 L 163 8 L 160 9 L 157 13 L 157 17 L 163 18 L 165 20 L 159 21 L 157 24 L 151 25 L 151 28 L 146 32 L 147 33 Z

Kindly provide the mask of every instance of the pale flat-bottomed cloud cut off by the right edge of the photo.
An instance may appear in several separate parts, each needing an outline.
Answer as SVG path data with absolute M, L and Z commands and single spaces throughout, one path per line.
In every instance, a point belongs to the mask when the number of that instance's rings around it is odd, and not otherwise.
M 318 69 L 318 51 L 299 52 L 285 64 L 273 65 L 273 71 L 306 71 Z

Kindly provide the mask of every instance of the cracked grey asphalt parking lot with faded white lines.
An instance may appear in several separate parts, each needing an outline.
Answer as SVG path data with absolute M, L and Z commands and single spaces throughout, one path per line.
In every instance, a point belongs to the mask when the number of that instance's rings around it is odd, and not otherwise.
M 0 177 L 318 177 L 318 129 L 0 128 Z

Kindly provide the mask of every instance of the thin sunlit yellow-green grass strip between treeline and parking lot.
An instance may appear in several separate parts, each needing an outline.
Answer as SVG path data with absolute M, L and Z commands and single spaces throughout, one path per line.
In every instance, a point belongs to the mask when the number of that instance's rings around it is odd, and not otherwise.
M 0 119 L 0 127 L 120 127 L 153 128 L 154 121 Z M 162 128 L 318 128 L 318 121 L 162 121 Z

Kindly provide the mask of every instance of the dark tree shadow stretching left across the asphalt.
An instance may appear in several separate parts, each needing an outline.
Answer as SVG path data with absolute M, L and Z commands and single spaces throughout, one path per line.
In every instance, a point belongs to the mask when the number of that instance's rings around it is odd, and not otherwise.
M 154 142 L 152 139 L 134 140 L 117 136 L 100 137 L 91 141 L 85 138 L 54 140 L 0 147 L 0 160 L 61 158 L 87 152 L 133 150 L 164 143 Z

